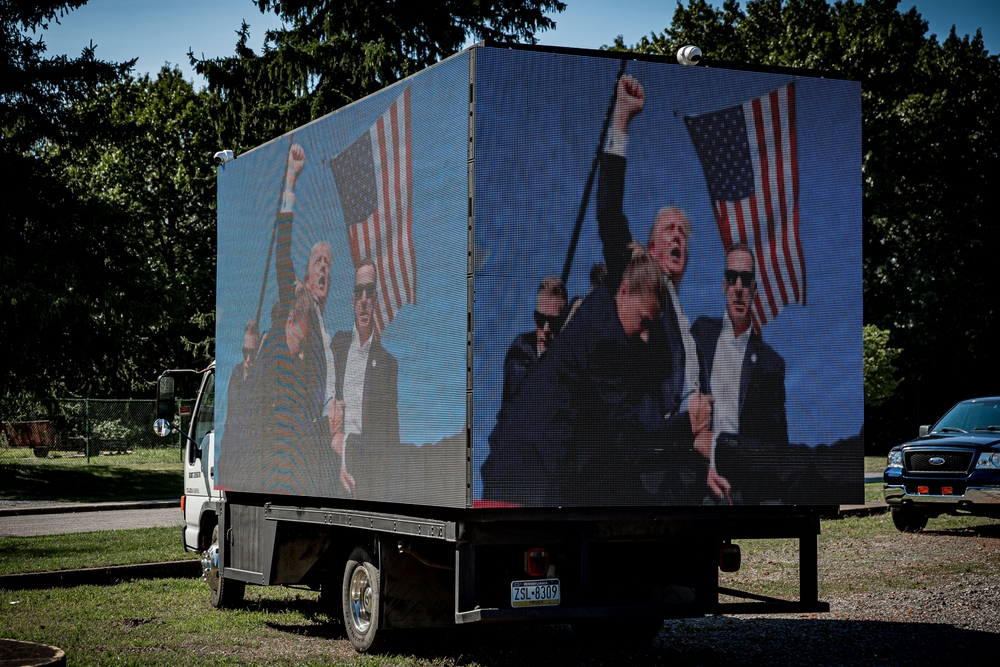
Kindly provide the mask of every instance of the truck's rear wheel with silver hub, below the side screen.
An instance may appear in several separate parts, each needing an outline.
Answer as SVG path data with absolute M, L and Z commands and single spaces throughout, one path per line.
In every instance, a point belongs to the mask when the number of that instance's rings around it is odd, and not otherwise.
M 359 653 L 378 650 L 384 632 L 379 631 L 381 608 L 380 579 L 375 559 L 364 547 L 357 547 L 344 568 L 344 630 Z

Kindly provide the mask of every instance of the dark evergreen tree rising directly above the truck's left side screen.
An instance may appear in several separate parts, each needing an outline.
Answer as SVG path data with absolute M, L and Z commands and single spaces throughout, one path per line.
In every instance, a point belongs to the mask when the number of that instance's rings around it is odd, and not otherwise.
M 534 43 L 559 0 L 254 0 L 274 12 L 263 52 L 191 63 L 216 94 L 220 146 L 243 151 L 414 74 L 469 38 Z

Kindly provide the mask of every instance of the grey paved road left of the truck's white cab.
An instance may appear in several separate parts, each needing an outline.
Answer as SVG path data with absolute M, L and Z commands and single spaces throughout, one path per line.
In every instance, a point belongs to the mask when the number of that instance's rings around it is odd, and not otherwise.
M 0 516 L 0 537 L 92 533 L 98 530 L 126 530 L 154 526 L 179 527 L 183 523 L 178 507 Z

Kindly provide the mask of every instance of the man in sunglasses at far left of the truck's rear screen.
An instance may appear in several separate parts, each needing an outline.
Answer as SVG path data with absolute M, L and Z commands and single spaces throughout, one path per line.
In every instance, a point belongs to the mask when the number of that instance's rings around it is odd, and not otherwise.
M 519 334 L 503 362 L 503 401 L 517 394 L 528 371 L 549 349 L 566 322 L 566 286 L 549 276 L 538 286 L 535 299 L 535 330 Z

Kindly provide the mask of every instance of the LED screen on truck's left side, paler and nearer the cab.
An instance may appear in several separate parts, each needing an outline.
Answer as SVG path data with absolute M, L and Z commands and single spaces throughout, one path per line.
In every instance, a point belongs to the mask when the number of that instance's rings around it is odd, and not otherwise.
M 219 170 L 216 479 L 468 504 L 469 54 Z

